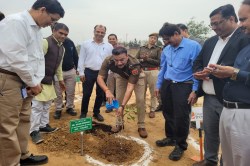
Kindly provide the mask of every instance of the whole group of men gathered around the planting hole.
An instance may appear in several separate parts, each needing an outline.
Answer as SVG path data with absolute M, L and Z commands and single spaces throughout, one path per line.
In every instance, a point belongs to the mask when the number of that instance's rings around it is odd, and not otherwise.
M 57 0 L 37 0 L 29 11 L 0 22 L 0 165 L 37 165 L 48 161 L 47 156 L 35 156 L 28 151 L 29 133 L 33 142 L 40 143 L 43 140 L 39 132 L 57 130 L 49 125 L 49 106 L 57 96 L 54 118 L 60 119 L 62 90 L 66 89 L 66 112 L 77 114 L 72 102 L 77 66 L 83 82 L 80 118 L 87 116 L 90 96 L 97 83 L 93 117 L 104 120 L 100 114 L 104 94 L 109 103 L 118 99 L 120 106 L 112 132 L 119 132 L 124 128 L 125 106 L 135 91 L 138 133 L 146 138 L 148 84 L 150 118 L 155 117 L 156 96 L 160 94 L 164 101 L 166 138 L 157 140 L 156 145 L 174 146 L 169 159 L 177 161 L 188 147 L 191 106 L 199 96 L 204 96 L 205 159 L 194 166 L 217 165 L 220 142 L 221 165 L 250 163 L 249 0 L 244 0 L 239 9 L 240 26 L 233 6 L 224 5 L 211 12 L 210 26 L 216 35 L 204 44 L 185 36 L 182 24 L 165 23 L 159 36 L 167 46 L 161 50 L 155 45 L 158 34 L 150 34 L 149 42 L 140 48 L 136 57 L 128 55 L 124 47 L 105 42 L 107 29 L 103 25 L 96 25 L 93 39 L 81 45 L 79 61 L 74 44 L 67 39 L 69 29 L 65 24 L 54 24 L 52 35 L 43 40 L 40 28 L 52 25 L 64 13 Z M 112 37 L 117 40 L 116 35 L 111 35 L 110 40 L 114 40 Z M 112 73 L 115 85 L 113 81 L 107 86 Z

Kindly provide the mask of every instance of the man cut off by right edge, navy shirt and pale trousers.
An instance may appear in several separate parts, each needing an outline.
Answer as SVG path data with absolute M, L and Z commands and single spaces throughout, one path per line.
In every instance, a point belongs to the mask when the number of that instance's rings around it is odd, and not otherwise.
M 240 26 L 250 35 L 250 1 L 238 12 Z M 234 65 L 209 64 L 207 74 L 226 80 L 223 111 L 220 117 L 220 141 L 225 166 L 248 166 L 250 163 L 250 44 L 237 55 Z

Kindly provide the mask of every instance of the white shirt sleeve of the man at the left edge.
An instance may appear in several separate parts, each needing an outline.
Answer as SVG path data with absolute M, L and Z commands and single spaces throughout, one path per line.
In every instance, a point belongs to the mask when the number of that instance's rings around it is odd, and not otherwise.
M 38 82 L 34 78 L 34 70 L 28 58 L 27 46 L 30 41 L 27 27 L 20 21 L 10 20 L 3 28 L 1 38 L 4 42 L 0 42 L 0 45 L 3 44 L 0 49 L 6 55 L 11 71 L 17 73 L 28 86 L 36 86 Z

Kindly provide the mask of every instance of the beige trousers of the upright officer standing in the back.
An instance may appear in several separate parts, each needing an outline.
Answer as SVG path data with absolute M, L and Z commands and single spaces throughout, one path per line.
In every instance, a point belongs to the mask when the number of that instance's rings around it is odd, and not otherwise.
M 145 94 L 144 97 L 146 98 L 147 92 L 147 85 L 150 92 L 150 111 L 155 111 L 157 107 L 157 97 L 155 96 L 155 87 L 156 81 L 158 77 L 159 70 L 150 70 L 144 71 L 145 73 Z

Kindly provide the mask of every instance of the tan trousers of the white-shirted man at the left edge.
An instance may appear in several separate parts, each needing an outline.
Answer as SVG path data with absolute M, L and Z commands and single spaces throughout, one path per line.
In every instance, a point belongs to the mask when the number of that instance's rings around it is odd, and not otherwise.
M 32 97 L 22 99 L 22 81 L 0 73 L 0 166 L 19 165 L 27 149 Z

